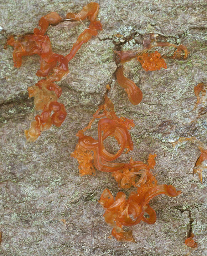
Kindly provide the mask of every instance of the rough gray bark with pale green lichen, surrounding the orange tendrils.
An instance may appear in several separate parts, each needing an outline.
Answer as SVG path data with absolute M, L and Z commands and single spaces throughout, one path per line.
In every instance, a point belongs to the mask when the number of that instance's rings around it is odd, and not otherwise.
M 82 45 L 69 63 L 69 75 L 58 83 L 66 120 L 61 127 L 43 132 L 36 142 L 26 143 L 24 130 L 38 114 L 27 88 L 39 80 L 35 75 L 39 57 L 25 57 L 22 66 L 14 68 L 13 48 L 4 49 L 6 38 L 32 33 L 38 20 L 51 11 L 63 17 L 79 12 L 88 2 L 0 1 L 0 255 L 184 256 L 190 252 L 205 256 L 207 174 L 204 170 L 203 184 L 198 175 L 193 176 L 200 151 L 190 141 L 175 149 L 170 143 L 195 136 L 207 144 L 206 96 L 193 110 L 194 86 L 207 84 L 205 0 L 100 0 L 103 31 Z M 84 29 L 81 23 L 66 21 L 50 26 L 46 33 L 53 51 L 66 55 Z M 143 92 L 142 102 L 134 106 L 116 82 L 114 50 L 141 49 L 143 35 L 151 32 L 162 41 L 186 45 L 190 55 L 187 60 L 167 59 L 167 69 L 154 72 L 145 72 L 136 60 L 124 64 L 125 75 Z M 162 55 L 174 51 L 157 50 Z M 112 228 L 97 200 L 104 188 L 113 196 L 120 191 L 111 174 L 97 171 L 96 176 L 80 177 L 78 162 L 70 157 L 77 131 L 103 103 L 107 84 L 118 117 L 135 123 L 130 131 L 134 150 L 120 161 L 133 157 L 146 162 L 149 153 L 156 153 L 152 173 L 158 183 L 182 191 L 178 197 L 160 195 L 151 200 L 157 221 L 132 227 L 136 243 L 108 238 Z M 97 136 L 95 125 L 90 135 Z M 106 147 L 113 152 L 114 141 L 108 140 Z M 122 191 L 129 195 L 133 188 Z M 195 249 L 185 245 L 190 231 L 198 243 Z

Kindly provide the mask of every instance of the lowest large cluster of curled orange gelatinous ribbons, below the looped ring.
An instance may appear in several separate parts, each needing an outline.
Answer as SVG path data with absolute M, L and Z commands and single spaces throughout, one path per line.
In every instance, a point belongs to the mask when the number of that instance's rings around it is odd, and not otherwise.
M 156 179 L 151 178 L 147 177 L 145 182 L 140 182 L 137 192 L 131 192 L 128 199 L 123 192 L 118 192 L 114 199 L 109 189 L 104 189 L 99 203 L 105 209 L 105 222 L 113 227 L 112 235 L 118 241 L 134 242 L 131 230 L 124 231 L 123 226 L 133 226 L 140 221 L 155 223 L 156 213 L 149 205 L 153 197 L 160 194 L 172 197 L 180 195 L 181 191 L 176 191 L 174 186 L 157 185 Z M 149 217 L 144 216 L 145 212 Z

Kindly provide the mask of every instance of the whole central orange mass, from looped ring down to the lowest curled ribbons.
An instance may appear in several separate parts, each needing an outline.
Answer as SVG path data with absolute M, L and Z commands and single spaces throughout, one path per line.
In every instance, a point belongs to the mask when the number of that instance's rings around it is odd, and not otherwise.
M 95 119 L 99 119 L 98 140 L 84 135 Z M 99 200 L 105 209 L 105 221 L 113 227 L 112 235 L 118 241 L 131 242 L 134 242 L 132 232 L 124 231 L 123 226 L 136 225 L 140 221 L 155 223 L 156 213 L 149 206 L 149 201 L 160 194 L 174 197 L 181 193 L 172 185 L 157 185 L 156 178 L 150 172 L 155 166 L 156 154 L 149 155 L 148 164 L 133 159 L 130 159 L 129 163 L 112 162 L 124 149 L 133 150 L 133 142 L 128 131 L 133 126 L 133 120 L 117 117 L 113 103 L 105 96 L 105 103 L 99 106 L 88 126 L 76 134 L 79 140 L 71 154 L 71 157 L 77 158 L 80 175 L 95 174 L 96 168 L 99 171 L 112 172 L 121 188 L 136 187 L 137 192 L 131 192 L 128 200 L 123 192 L 118 192 L 114 199 L 108 188 L 104 189 Z M 108 136 L 113 136 L 120 144 L 116 154 L 111 154 L 104 148 L 103 141 Z M 144 213 L 149 217 L 145 217 Z

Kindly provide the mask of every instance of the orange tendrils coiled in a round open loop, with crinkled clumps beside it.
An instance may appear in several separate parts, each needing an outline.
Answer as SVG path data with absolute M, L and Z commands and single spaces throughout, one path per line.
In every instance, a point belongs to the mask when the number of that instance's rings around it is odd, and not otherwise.
M 95 119 L 99 119 L 97 140 L 84 134 L 87 129 L 91 128 Z M 113 103 L 105 96 L 105 103 L 99 106 L 88 126 L 76 134 L 79 140 L 71 157 L 77 159 L 80 175 L 95 174 L 95 167 L 99 171 L 113 172 L 119 185 L 128 187 L 129 184 L 135 184 L 136 174 L 143 174 L 149 168 L 154 168 L 156 155 L 149 156 L 149 164 L 133 161 L 133 159 L 129 163 L 112 162 L 118 159 L 125 149 L 126 153 L 133 150 L 134 146 L 129 133 L 131 127 L 134 127 L 133 120 L 124 117 L 118 118 Z M 104 147 L 103 142 L 108 136 L 114 137 L 120 145 L 116 154 L 108 152 Z

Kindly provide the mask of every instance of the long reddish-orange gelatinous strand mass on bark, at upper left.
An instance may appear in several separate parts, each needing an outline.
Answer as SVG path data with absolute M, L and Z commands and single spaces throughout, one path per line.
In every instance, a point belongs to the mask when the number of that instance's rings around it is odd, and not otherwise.
M 64 79 L 69 72 L 68 62 L 75 56 L 76 52 L 102 30 L 102 24 L 96 20 L 99 4 L 89 3 L 83 7 L 78 14 L 68 13 L 67 20 L 84 20 L 88 17 L 90 24 L 79 36 L 76 43 L 68 55 L 63 56 L 52 51 L 50 38 L 45 32 L 50 24 L 57 25 L 64 21 L 55 12 L 43 16 L 39 21 L 39 27 L 34 29 L 33 34 L 20 36 L 17 40 L 10 36 L 7 45 L 14 47 L 14 66 L 19 68 L 22 64 L 22 56 L 37 54 L 40 56 L 40 69 L 36 75 L 46 77 L 28 88 L 29 97 L 34 97 L 35 109 L 41 110 L 40 115 L 36 115 L 29 130 L 25 131 L 27 141 L 36 141 L 42 131 L 51 127 L 52 124 L 59 127 L 66 118 L 66 109 L 57 99 L 61 96 L 62 89 L 56 82 Z

